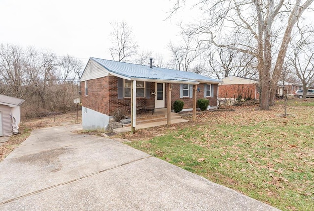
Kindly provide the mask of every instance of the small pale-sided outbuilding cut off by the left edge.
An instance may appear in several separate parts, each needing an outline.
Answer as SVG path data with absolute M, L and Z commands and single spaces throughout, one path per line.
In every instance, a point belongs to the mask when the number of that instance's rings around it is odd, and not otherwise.
M 18 133 L 21 123 L 20 105 L 23 99 L 0 95 L 0 136 Z

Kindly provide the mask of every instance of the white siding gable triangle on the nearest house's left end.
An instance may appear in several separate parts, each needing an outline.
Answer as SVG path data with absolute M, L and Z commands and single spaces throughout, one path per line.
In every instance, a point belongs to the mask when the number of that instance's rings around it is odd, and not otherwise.
M 108 74 L 109 71 L 106 70 L 104 67 L 100 66 L 93 60 L 89 60 L 80 81 L 98 79 L 107 76 Z

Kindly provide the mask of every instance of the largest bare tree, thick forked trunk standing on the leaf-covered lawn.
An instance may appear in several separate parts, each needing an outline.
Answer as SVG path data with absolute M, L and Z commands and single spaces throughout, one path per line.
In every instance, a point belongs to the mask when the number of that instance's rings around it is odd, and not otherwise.
M 203 42 L 248 53 L 257 59 L 260 108 L 274 105 L 277 83 L 294 25 L 313 0 L 200 0 L 203 19 L 190 27 Z M 172 14 L 185 0 L 176 0 Z M 282 36 L 275 36 L 282 33 Z M 220 43 L 219 35 L 229 43 Z M 237 37 L 238 39 L 231 39 Z M 235 41 L 235 42 L 234 42 Z M 274 51 L 276 59 L 273 62 Z

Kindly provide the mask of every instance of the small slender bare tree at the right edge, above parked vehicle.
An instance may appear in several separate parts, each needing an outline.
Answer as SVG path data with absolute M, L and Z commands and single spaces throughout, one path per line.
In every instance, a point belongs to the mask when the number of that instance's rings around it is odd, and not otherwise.
M 301 30 L 299 33 L 300 39 L 291 42 L 287 58 L 303 85 L 303 98 L 306 98 L 306 93 L 314 82 L 314 41 L 311 40 L 314 33 L 303 33 Z

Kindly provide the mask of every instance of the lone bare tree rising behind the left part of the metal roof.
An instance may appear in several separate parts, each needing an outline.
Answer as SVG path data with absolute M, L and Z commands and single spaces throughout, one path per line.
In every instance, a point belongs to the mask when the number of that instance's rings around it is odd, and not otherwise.
M 133 30 L 125 21 L 110 23 L 112 47 L 109 48 L 114 61 L 126 61 L 137 53 L 138 45 L 134 41 Z

